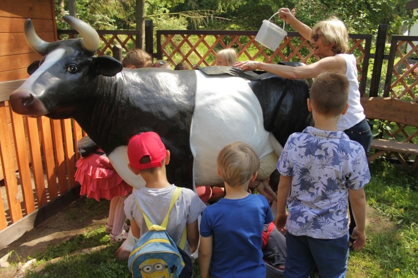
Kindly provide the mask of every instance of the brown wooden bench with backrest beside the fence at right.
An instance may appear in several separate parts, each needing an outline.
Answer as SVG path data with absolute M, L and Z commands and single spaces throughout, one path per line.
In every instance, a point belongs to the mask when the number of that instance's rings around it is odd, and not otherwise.
M 402 101 L 392 97 L 362 97 L 361 103 L 367 119 L 379 119 L 396 123 L 397 129 L 384 132 L 392 139 L 372 139 L 370 149 L 375 149 L 367 161 L 371 162 L 382 155 L 396 159 L 411 173 L 418 176 L 418 144 L 412 139 L 418 137 L 418 103 Z M 413 127 L 412 130 L 406 127 Z M 402 137 L 402 139 L 398 139 Z M 415 156 L 412 163 L 407 162 Z

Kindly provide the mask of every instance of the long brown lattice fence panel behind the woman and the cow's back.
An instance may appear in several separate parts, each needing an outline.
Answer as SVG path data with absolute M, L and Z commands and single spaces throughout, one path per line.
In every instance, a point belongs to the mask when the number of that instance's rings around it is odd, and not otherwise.
M 214 66 L 216 52 L 224 48 L 235 48 L 238 60 L 260 60 L 267 63 L 298 61 L 305 64 L 318 61 L 310 42 L 296 32 L 288 32 L 275 51 L 262 46 L 255 37 L 256 31 L 198 31 L 158 30 L 160 55 L 172 65 L 186 63 L 189 66 Z M 359 81 L 367 74 L 371 36 L 351 35 L 350 53 L 357 57 Z M 367 76 L 365 76 L 367 78 Z M 365 85 L 363 85 L 363 92 Z

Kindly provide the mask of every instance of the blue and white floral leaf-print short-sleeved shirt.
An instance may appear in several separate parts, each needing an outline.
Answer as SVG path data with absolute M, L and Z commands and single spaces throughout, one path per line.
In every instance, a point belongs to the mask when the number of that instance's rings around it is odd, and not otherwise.
M 310 126 L 290 135 L 277 169 L 284 176 L 292 176 L 288 232 L 322 239 L 347 234 L 348 189 L 361 189 L 370 181 L 361 144 L 342 131 Z

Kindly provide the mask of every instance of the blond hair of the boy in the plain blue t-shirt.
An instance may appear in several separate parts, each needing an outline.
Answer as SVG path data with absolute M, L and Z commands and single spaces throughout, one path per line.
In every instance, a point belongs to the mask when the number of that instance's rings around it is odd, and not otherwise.
M 260 169 L 260 159 L 250 145 L 236 141 L 219 152 L 217 165 L 222 180 L 235 187 L 250 181 Z

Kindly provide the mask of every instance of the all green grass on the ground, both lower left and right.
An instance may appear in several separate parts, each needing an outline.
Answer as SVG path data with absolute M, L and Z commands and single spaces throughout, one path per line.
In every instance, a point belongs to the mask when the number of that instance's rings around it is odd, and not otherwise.
M 415 278 L 418 273 L 418 181 L 400 165 L 376 160 L 370 164 L 371 182 L 366 186 L 367 205 L 374 214 L 367 215 L 367 242 L 361 252 L 351 252 L 348 278 Z M 93 209 L 93 208 L 92 208 Z M 126 262 L 115 259 L 118 245 L 107 245 L 91 254 L 70 255 L 84 248 L 106 245 L 104 228 L 78 235 L 69 241 L 49 246 L 33 254 L 37 264 L 45 263 L 38 277 L 130 277 Z M 54 258 L 61 257 L 51 263 Z M 195 277 L 200 278 L 195 262 Z M 317 277 L 313 273 L 311 277 Z

